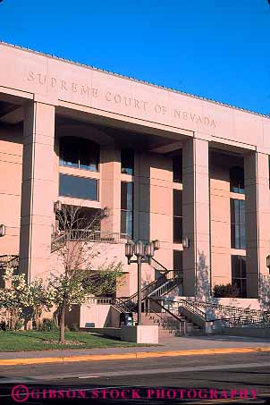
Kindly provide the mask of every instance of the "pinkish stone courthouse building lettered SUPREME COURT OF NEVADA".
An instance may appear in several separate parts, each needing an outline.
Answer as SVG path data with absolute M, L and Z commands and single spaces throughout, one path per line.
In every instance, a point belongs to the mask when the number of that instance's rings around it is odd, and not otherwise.
M 28 280 L 57 264 L 61 201 L 89 215 L 106 208 L 99 241 L 124 264 L 119 296 L 137 290 L 131 238 L 161 243 L 143 286 L 161 266 L 181 273 L 178 295 L 232 283 L 257 299 L 269 154 L 266 115 L 0 44 L 0 256 L 19 256 Z

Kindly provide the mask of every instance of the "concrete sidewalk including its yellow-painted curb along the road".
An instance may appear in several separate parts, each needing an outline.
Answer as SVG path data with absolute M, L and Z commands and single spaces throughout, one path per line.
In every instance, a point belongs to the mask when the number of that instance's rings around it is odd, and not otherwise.
M 152 358 L 163 356 L 190 356 L 233 352 L 270 351 L 269 339 L 233 336 L 198 336 L 173 338 L 159 346 L 117 347 L 87 350 L 44 350 L 0 352 L 0 366 L 17 364 L 42 364 L 65 361 L 90 361 Z

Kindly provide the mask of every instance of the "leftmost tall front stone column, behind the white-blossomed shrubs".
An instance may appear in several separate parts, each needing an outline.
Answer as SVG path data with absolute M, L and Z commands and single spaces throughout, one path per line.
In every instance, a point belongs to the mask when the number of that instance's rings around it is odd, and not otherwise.
M 20 272 L 28 281 L 48 274 L 51 225 L 57 198 L 55 106 L 38 102 L 24 108 L 21 184 Z

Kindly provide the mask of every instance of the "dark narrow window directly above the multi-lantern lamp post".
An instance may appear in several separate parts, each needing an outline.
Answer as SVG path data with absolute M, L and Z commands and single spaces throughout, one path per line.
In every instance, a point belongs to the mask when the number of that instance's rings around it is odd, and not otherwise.
M 133 237 L 133 183 L 121 181 L 121 232 Z

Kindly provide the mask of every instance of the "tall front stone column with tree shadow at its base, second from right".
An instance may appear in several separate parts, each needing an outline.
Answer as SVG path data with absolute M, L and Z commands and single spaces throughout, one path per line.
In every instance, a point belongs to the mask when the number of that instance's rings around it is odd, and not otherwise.
M 190 139 L 183 145 L 183 294 L 203 300 L 210 291 L 208 142 Z

